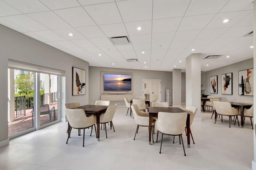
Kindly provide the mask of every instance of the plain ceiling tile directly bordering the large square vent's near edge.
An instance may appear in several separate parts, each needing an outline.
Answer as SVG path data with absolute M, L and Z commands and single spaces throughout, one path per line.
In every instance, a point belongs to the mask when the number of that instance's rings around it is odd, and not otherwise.
M 107 37 L 128 36 L 128 33 L 123 23 L 100 25 L 99 27 L 106 34 Z

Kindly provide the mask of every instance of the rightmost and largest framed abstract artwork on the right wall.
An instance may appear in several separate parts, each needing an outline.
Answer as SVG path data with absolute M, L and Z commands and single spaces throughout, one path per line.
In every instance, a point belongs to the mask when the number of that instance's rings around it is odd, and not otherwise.
M 238 71 L 238 95 L 253 96 L 253 69 Z

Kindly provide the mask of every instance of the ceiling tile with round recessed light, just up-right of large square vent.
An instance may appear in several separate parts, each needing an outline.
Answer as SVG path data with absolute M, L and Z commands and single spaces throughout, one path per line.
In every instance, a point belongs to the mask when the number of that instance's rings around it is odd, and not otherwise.
M 128 34 L 131 35 L 140 35 L 140 34 L 151 34 L 152 32 L 152 21 L 138 21 L 138 22 L 127 22 L 124 23 Z M 138 27 L 141 27 L 141 30 L 137 30 Z

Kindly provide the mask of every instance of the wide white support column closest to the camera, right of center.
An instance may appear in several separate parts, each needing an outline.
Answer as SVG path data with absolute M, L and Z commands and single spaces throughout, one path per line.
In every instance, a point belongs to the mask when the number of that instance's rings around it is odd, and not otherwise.
M 196 118 L 201 121 L 201 54 L 186 58 L 186 106 L 197 107 Z

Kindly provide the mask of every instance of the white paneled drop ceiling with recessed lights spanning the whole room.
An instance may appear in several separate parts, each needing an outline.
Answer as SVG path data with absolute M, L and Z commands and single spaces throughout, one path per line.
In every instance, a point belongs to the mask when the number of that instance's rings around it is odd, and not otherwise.
M 0 24 L 90 66 L 185 71 L 186 57 L 201 53 L 209 71 L 253 57 L 252 1 L 0 0 Z M 110 41 L 120 36 L 130 42 Z

